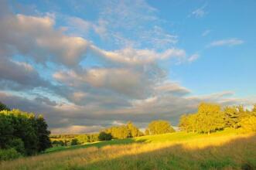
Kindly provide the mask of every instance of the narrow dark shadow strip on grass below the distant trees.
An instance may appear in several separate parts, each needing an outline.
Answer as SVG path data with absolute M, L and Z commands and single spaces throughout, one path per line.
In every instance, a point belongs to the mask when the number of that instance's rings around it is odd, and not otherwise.
M 144 142 L 146 142 L 145 139 L 139 139 L 139 140 L 135 140 L 134 138 L 113 139 L 111 141 L 98 141 L 98 142 L 88 143 L 84 145 L 53 147 L 53 148 L 47 149 L 42 154 L 53 153 L 56 151 L 67 151 L 67 150 L 73 150 L 73 149 L 79 149 L 79 148 L 89 148 L 89 147 L 101 148 L 107 145 L 130 145 L 133 143 L 144 143 Z

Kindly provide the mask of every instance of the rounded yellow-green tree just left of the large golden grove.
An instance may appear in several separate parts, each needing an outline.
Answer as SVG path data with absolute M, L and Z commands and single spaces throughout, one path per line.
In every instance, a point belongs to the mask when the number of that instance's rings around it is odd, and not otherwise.
M 166 134 L 170 132 L 174 132 L 171 124 L 168 121 L 152 121 L 148 124 L 148 131 L 150 134 Z

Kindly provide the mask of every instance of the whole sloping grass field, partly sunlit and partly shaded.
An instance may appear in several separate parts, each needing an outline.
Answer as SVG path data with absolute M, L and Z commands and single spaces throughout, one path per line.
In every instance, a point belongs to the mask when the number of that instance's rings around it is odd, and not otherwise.
M 56 147 L 0 169 L 256 169 L 256 134 L 176 132 Z

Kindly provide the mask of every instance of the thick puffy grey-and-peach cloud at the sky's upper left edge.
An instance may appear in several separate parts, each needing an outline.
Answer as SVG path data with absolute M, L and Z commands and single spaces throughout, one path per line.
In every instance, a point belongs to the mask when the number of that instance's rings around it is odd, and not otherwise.
M 53 61 L 76 66 L 89 42 L 80 37 L 65 36 L 53 26 L 54 19 L 47 15 L 5 15 L 0 18 L 0 50 L 5 55 L 31 56 L 36 62 Z

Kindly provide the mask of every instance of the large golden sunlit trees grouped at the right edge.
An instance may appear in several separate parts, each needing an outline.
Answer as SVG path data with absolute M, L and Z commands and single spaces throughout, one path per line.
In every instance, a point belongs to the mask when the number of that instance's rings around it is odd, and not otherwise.
M 226 106 L 201 103 L 194 114 L 183 114 L 179 120 L 182 131 L 210 134 L 224 128 L 241 128 L 256 131 L 256 104 L 252 110 L 243 106 Z

